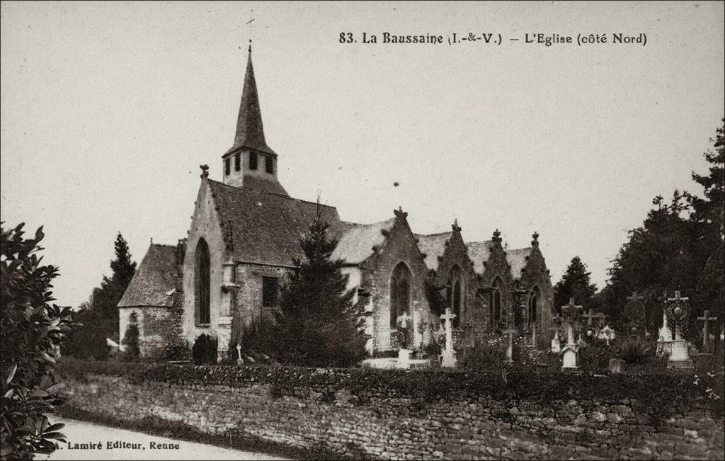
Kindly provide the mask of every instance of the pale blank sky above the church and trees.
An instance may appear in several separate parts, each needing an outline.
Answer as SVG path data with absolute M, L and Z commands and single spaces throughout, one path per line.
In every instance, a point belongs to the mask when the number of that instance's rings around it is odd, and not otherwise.
M 401 206 L 417 233 L 457 218 L 467 241 L 499 228 L 509 248 L 538 231 L 554 282 L 579 255 L 602 287 L 654 196 L 700 193 L 690 174 L 725 114 L 723 15 L 722 2 L 4 1 L 2 220 L 46 226 L 55 293 L 74 306 L 110 273 L 118 231 L 138 262 L 150 238 L 185 237 L 199 164 L 220 180 L 233 142 L 254 18 L 265 135 L 291 196 L 319 191 L 360 223 Z M 361 43 L 386 31 L 446 43 Z M 452 33 L 503 43 L 449 46 Z

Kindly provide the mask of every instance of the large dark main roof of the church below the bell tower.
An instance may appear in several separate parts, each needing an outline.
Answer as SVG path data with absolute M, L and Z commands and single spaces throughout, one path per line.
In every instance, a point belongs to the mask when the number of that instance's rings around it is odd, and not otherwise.
M 307 226 L 317 215 L 317 204 L 208 181 L 223 235 L 228 235 L 231 223 L 235 261 L 290 266 L 293 257 L 304 256 L 299 238 L 307 233 Z M 320 212 L 331 224 L 333 235 L 338 233 L 341 225 L 337 209 L 320 205 Z

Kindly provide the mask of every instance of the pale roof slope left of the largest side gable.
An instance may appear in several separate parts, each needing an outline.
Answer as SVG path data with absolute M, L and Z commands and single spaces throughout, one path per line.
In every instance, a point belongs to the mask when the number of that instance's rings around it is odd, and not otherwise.
M 373 224 L 341 223 L 339 242 L 332 252 L 332 259 L 342 259 L 349 264 L 359 264 L 373 254 L 373 246 L 385 241 L 383 231 L 390 231 L 395 218 Z

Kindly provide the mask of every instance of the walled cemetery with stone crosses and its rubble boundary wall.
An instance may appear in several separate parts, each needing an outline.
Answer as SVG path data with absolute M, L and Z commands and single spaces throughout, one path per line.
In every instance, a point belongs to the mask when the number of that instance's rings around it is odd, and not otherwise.
M 397 356 L 363 367 L 270 365 L 245 360 L 241 348 L 221 365 L 66 359 L 70 403 L 60 414 L 328 458 L 721 458 L 724 373 L 713 316 L 690 319 L 686 296 L 662 296 L 655 338 L 642 326 L 645 304 L 630 298 L 642 305 L 627 307 L 631 317 L 616 328 L 570 299 L 543 350 L 510 323 L 457 351 L 447 310 L 436 357 L 413 349 L 404 315 Z M 690 320 L 701 344 L 683 339 Z

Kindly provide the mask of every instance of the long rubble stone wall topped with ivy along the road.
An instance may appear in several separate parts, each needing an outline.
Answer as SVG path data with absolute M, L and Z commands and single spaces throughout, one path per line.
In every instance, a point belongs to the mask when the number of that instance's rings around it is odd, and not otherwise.
M 118 425 L 355 458 L 722 459 L 723 380 L 70 362 L 75 410 Z M 706 389 L 711 391 L 706 391 Z M 717 392 L 717 391 L 716 391 Z

